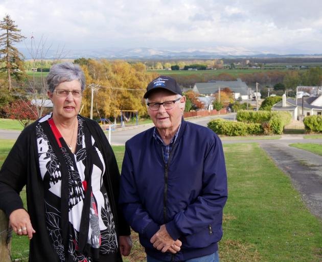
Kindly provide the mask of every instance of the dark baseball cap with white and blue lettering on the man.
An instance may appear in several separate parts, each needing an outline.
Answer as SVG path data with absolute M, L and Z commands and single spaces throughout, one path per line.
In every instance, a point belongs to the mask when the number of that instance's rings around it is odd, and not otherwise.
M 182 96 L 180 86 L 177 84 L 176 80 L 170 76 L 159 76 L 152 80 L 147 86 L 147 92 L 144 94 L 144 98 L 148 96 L 157 89 L 168 90 L 174 94 Z

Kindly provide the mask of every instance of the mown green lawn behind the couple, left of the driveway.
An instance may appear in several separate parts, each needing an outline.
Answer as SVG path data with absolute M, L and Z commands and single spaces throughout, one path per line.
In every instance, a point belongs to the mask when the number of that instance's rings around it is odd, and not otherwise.
M 2 159 L 13 142 L 0 140 Z M 124 146 L 113 149 L 121 166 Z M 224 153 L 229 196 L 220 261 L 321 261 L 321 223 L 304 206 L 290 178 L 256 143 L 224 145 Z M 131 255 L 124 261 L 145 261 L 137 234 L 132 238 Z M 28 239 L 14 236 L 13 258 L 27 256 L 26 250 Z

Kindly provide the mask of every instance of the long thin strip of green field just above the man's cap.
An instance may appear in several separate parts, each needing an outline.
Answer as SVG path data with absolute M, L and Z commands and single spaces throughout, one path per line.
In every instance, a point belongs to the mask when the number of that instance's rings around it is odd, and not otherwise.
M 261 72 L 272 72 L 273 70 L 268 69 L 218 69 L 218 70 L 198 70 L 198 71 L 190 71 L 190 70 L 147 70 L 148 73 L 156 73 L 158 75 L 166 75 L 166 76 L 175 76 L 175 75 L 183 75 L 183 76 L 191 76 L 191 75 L 209 75 L 209 76 L 217 76 L 220 74 L 229 74 L 233 77 L 238 77 L 240 74 L 253 74 L 253 73 L 261 73 Z M 276 70 L 275 70 L 276 71 Z M 278 71 L 287 71 L 286 69 L 280 69 Z

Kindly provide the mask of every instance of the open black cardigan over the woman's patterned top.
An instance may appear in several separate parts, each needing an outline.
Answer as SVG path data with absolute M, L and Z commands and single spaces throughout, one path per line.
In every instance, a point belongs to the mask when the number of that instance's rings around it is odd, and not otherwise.
M 99 124 L 88 118 L 82 118 L 104 157 L 106 170 L 103 180 L 117 235 L 129 235 L 130 228 L 118 206 L 120 172 L 112 148 Z M 37 123 L 38 121 L 27 126 L 21 132 L 0 170 L 0 209 L 3 209 L 9 217 L 12 211 L 24 208 L 19 192 L 26 185 L 28 213 L 31 224 L 36 230 L 30 241 L 29 261 L 58 262 L 45 225 L 44 189 L 39 170 L 36 139 Z M 122 261 L 120 248 L 118 253 Z

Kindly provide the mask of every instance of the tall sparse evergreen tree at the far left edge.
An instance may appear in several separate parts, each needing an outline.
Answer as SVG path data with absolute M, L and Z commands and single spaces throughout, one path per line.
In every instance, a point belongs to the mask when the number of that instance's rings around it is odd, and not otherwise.
M 0 70 L 7 73 L 8 90 L 12 88 L 11 76 L 19 79 L 19 72 L 22 69 L 20 57 L 24 57 L 13 45 L 26 38 L 19 33 L 21 30 L 14 23 L 8 14 L 0 21 L 0 31 L 4 31 L 0 35 L 0 63 L 4 64 Z

